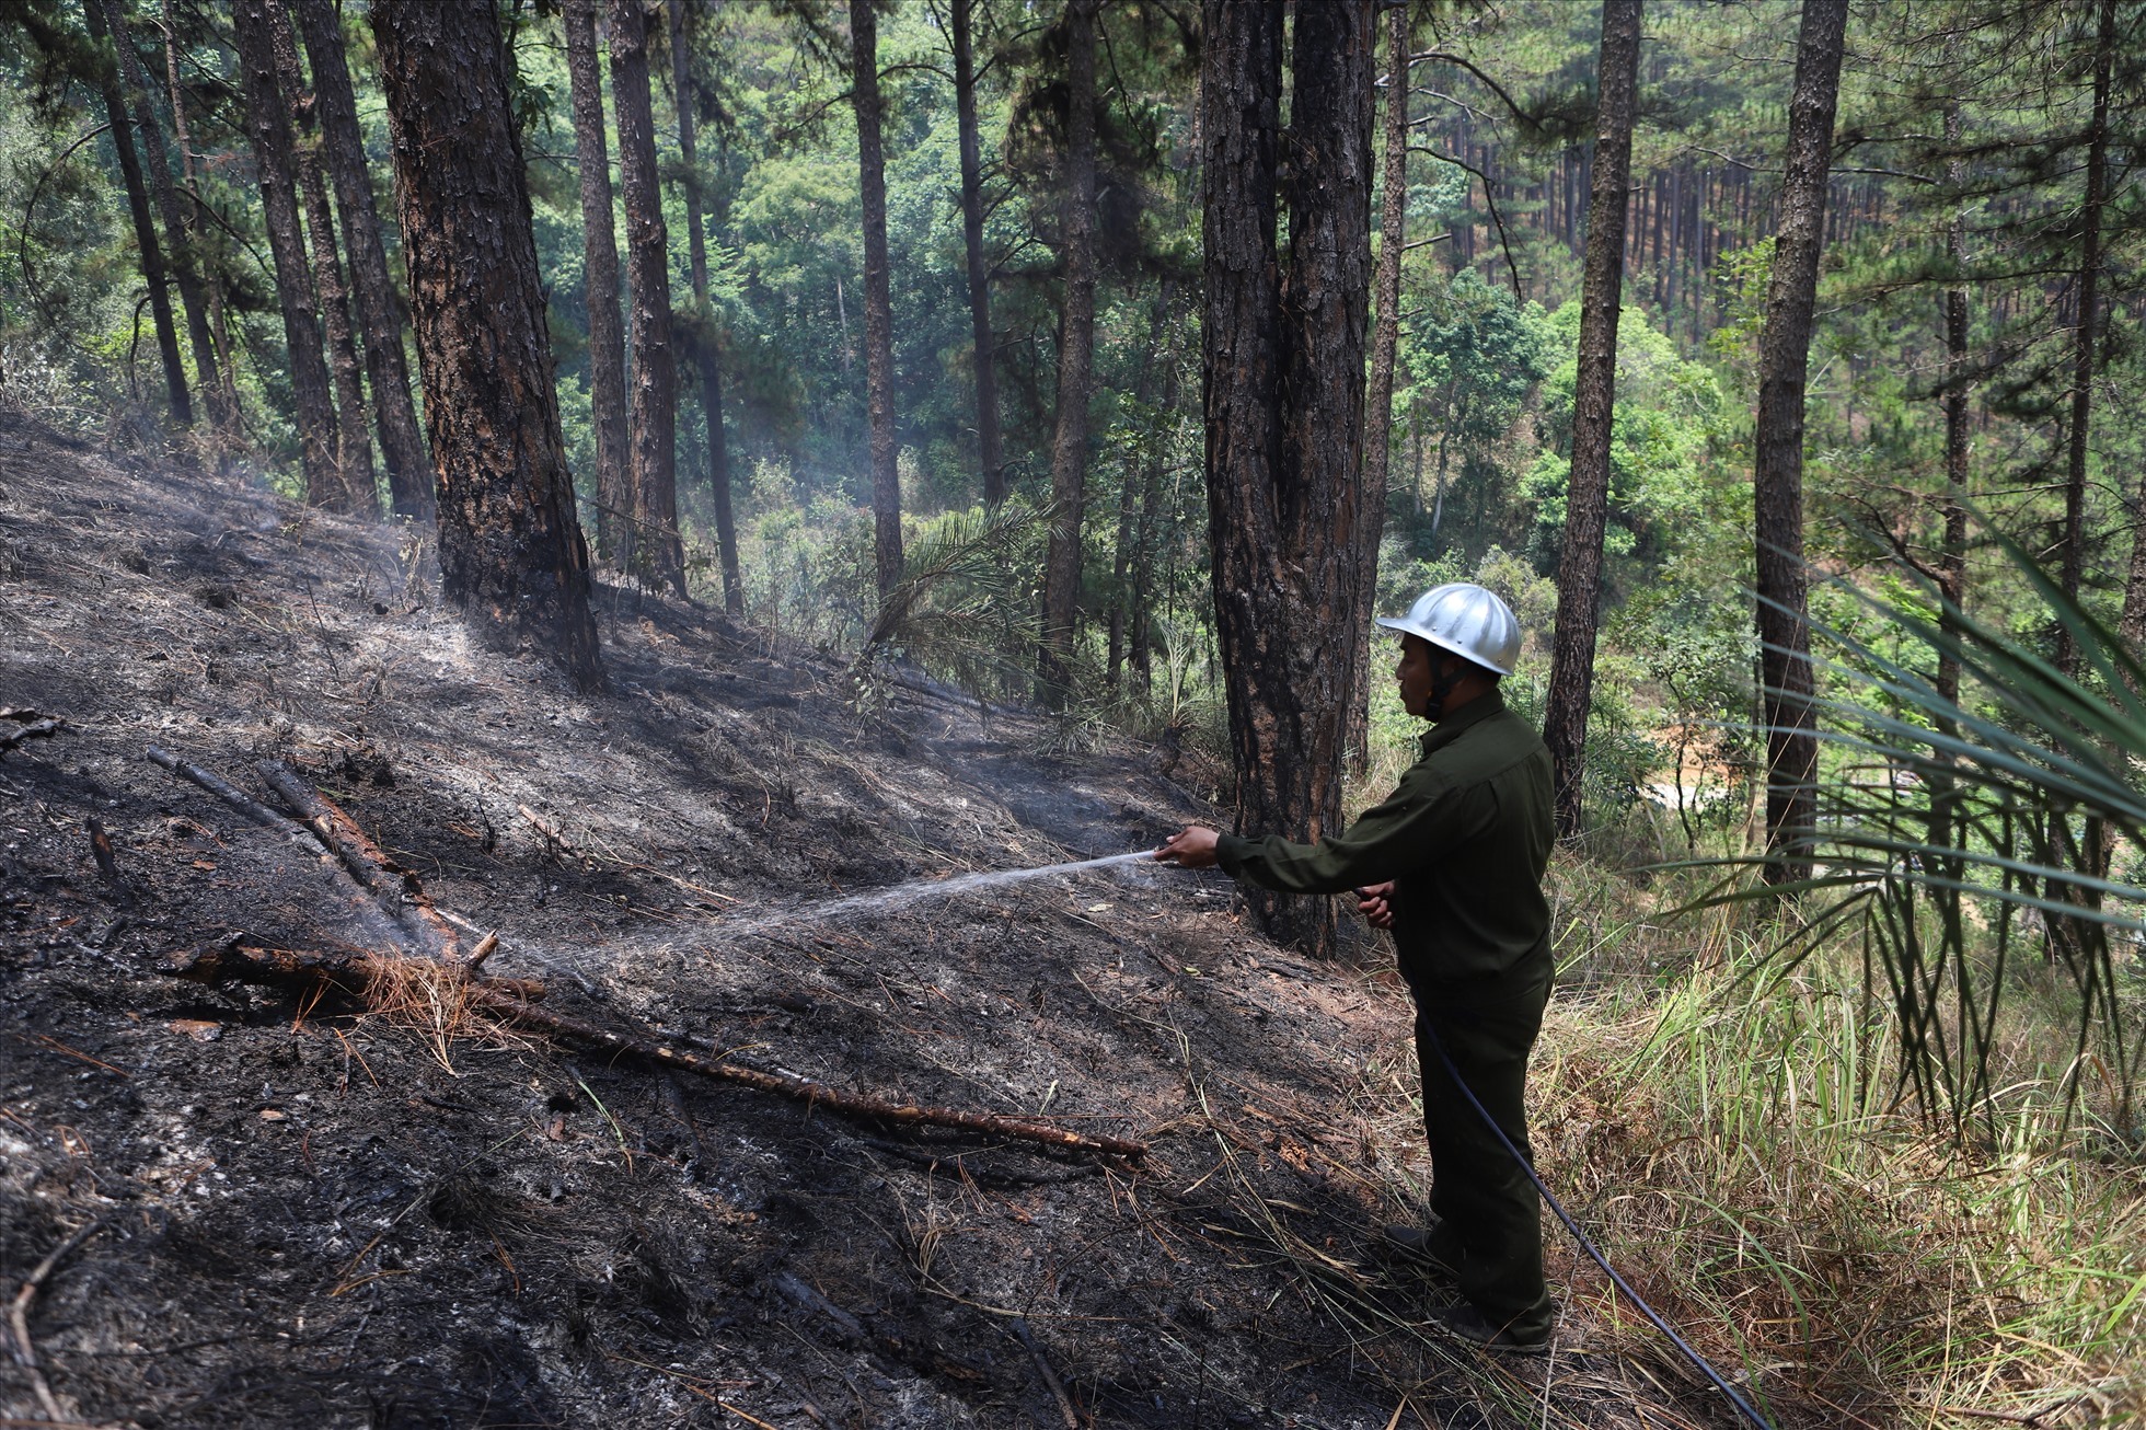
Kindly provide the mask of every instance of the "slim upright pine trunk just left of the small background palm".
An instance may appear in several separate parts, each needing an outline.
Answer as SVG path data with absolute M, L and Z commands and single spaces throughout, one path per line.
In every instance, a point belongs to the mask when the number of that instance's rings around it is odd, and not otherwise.
M 895 466 L 895 301 L 886 275 L 886 157 L 880 148 L 880 19 L 850 0 L 850 103 L 856 110 L 865 221 L 865 421 L 871 429 L 871 554 L 880 595 L 901 580 L 901 472 Z

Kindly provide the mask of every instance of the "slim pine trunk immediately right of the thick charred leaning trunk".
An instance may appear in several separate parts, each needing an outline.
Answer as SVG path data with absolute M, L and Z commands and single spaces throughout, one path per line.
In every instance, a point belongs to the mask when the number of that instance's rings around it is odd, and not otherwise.
M 624 571 L 633 558 L 633 438 L 627 427 L 627 326 L 618 316 L 618 234 L 612 155 L 603 137 L 597 0 L 567 0 L 567 79 L 582 170 L 582 294 L 588 305 L 588 412 L 597 429 L 597 554 Z

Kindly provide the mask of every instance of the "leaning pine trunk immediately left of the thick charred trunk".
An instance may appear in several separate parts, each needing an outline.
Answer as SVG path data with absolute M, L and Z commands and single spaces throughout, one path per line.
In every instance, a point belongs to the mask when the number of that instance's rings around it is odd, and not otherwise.
M 380 238 L 380 208 L 358 129 L 358 97 L 343 54 L 343 24 L 335 0 L 294 0 L 305 58 L 313 67 L 313 107 L 320 122 L 322 157 L 335 185 L 343 247 L 350 256 L 350 296 L 365 350 L 365 380 L 371 389 L 380 457 L 388 472 L 395 515 L 431 522 L 431 462 L 418 434 L 410 397 L 410 363 L 403 356 L 403 309 L 388 275 L 388 251 Z

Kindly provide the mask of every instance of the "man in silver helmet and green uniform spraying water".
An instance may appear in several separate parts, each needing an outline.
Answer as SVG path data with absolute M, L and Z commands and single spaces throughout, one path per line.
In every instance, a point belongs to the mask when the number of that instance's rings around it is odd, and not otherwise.
M 1554 1318 L 1539 1205 L 1468 1091 L 1532 1157 L 1528 1052 L 1554 973 L 1543 898 L 1556 837 L 1549 752 L 1498 691 L 1519 655 L 1519 623 L 1496 595 L 1436 586 L 1380 625 L 1401 633 L 1401 704 L 1431 721 L 1423 758 L 1395 792 L 1339 840 L 1292 844 L 1193 825 L 1155 857 L 1187 870 L 1219 863 L 1283 893 L 1354 889 L 1363 915 L 1393 930 L 1416 1003 L 1434 1215 L 1429 1228 L 1384 1235 L 1453 1275 L 1466 1305 L 1434 1312 L 1446 1331 L 1532 1351 L 1549 1342 Z

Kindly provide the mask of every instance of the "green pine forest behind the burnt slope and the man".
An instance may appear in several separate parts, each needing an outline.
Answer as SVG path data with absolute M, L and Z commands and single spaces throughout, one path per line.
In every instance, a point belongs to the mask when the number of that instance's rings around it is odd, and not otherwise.
M 1897 1039 L 1869 1106 L 1987 1151 L 2024 1078 L 2135 1174 L 2146 4 L 1300 0 L 1266 60 L 1221 0 L 425 11 L 0 9 L 0 395 L 403 522 L 577 678 L 590 603 L 682 593 L 854 661 L 861 704 L 925 674 L 1191 752 L 1292 835 L 1412 758 L 1369 612 L 1483 582 L 1573 880 L 1861 986 Z M 468 133 L 427 26 L 498 60 L 455 75 L 498 120 L 459 165 L 418 161 Z M 1221 127 L 1258 105 L 1328 183 L 1255 174 L 1277 367 L 1230 406 L 1217 305 L 1253 298 L 1215 245 L 1260 234 L 1217 174 L 1262 161 Z M 455 288 L 455 185 L 526 189 L 506 288 Z M 1313 225 L 1356 238 L 1322 266 Z M 1346 344 L 1303 292 L 1354 296 Z M 1260 402 L 1320 522 L 1232 505 Z M 451 457 L 549 505 L 487 530 Z M 1234 625 L 1217 588 L 1275 550 L 1307 584 Z M 1285 670 L 1354 721 L 1258 745 Z

